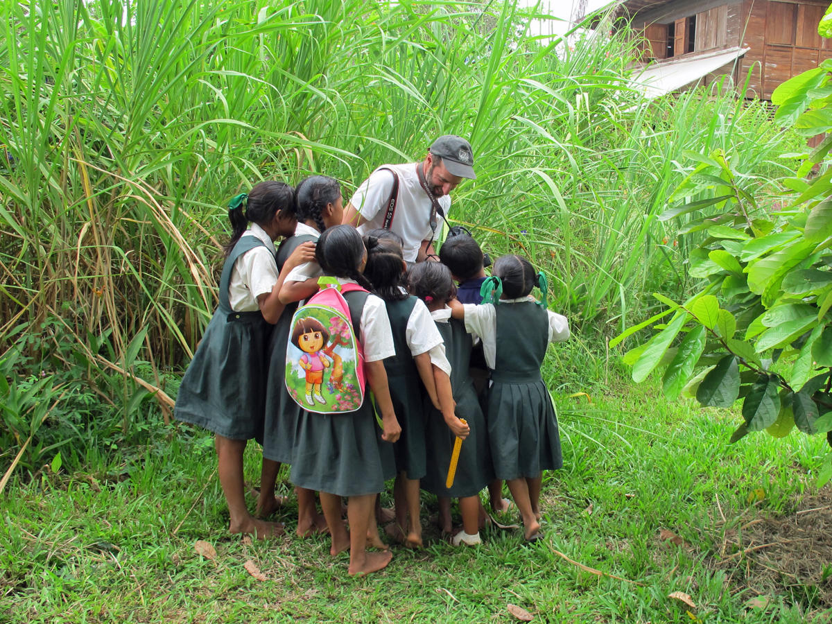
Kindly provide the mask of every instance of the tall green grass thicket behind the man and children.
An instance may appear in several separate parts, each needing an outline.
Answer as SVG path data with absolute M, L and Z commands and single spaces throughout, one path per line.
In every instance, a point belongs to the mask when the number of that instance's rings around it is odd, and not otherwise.
M 730 95 L 641 102 L 608 16 L 568 45 L 526 24 L 496 1 L 4 2 L 0 353 L 30 340 L 0 364 L 77 371 L 125 426 L 147 393 L 169 409 L 165 371 L 215 305 L 225 198 L 312 171 L 349 195 L 445 132 L 478 171 L 452 219 L 532 256 L 585 335 L 617 332 L 645 292 L 685 287 L 656 220 L 685 151 L 752 169 L 776 137 Z

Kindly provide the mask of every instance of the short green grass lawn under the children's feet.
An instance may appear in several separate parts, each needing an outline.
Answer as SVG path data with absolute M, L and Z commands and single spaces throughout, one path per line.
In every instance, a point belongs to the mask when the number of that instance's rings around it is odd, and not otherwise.
M 0 500 L 0 621 L 517 622 L 509 604 L 535 622 L 827 621 L 810 587 L 756 585 L 755 562 L 726 540 L 813 493 L 822 437 L 764 433 L 729 446 L 739 417 L 667 404 L 651 385 L 592 399 L 557 401 L 566 468 L 544 481 L 543 542 L 489 528 L 483 546 L 459 550 L 430 528 L 423 551 L 394 547 L 390 566 L 364 579 L 347 575 L 346 555 L 329 557 L 326 537 L 228 537 L 201 431 L 92 454 L 86 473 L 12 479 Z M 252 443 L 254 484 L 259 461 Z M 290 529 L 294 511 L 279 518 Z M 435 513 L 427 497 L 423 513 Z M 661 529 L 685 543 L 662 541 Z M 197 540 L 214 545 L 214 560 Z M 768 607 L 747 606 L 758 593 L 773 597 Z

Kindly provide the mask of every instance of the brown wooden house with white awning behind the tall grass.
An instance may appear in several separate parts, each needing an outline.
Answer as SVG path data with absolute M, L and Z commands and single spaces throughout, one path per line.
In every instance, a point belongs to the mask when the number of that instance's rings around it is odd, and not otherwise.
M 674 68 L 666 91 L 706 84 L 726 73 L 746 97 L 770 100 L 790 77 L 832 58 L 832 39 L 818 35 L 829 0 L 625 0 L 618 14 L 644 35 L 642 61 L 653 72 Z M 722 64 L 720 62 L 724 61 Z M 716 66 L 716 67 L 715 67 Z

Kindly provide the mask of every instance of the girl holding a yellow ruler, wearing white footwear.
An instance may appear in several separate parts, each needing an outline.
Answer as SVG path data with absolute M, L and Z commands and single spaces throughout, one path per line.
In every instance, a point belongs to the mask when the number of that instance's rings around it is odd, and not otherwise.
M 445 354 L 451 364 L 450 382 L 455 403 L 455 409 L 450 414 L 440 414 L 426 404 L 426 438 L 431 456 L 428 458 L 427 475 L 422 481 L 422 487 L 436 494 L 440 501 L 443 498 L 459 499 L 463 528 L 453 536 L 451 542 L 454 546 L 473 546 L 482 541 L 479 537 L 478 493 L 493 478 L 488 428 L 473 380 L 468 374 L 473 340 L 465 331 L 462 321 L 451 319 L 451 310 L 447 304 L 456 294 L 456 288 L 451 272 L 445 265 L 438 262 L 418 264 L 410 270 L 408 280 L 410 292 L 428 305 L 431 317 L 443 337 Z M 463 424 L 461 419 L 466 423 Z M 457 436 L 463 438 L 464 442 L 460 448 L 453 484 L 448 488 L 446 479 Z

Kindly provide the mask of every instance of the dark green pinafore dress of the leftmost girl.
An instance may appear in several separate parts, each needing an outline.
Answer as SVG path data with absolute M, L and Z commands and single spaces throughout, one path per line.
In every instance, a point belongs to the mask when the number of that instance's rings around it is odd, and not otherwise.
M 211 317 L 182 378 L 174 416 L 224 438 L 249 440 L 263 434 L 265 384 L 272 325 L 256 312 L 235 312 L 228 300 L 234 263 L 246 251 L 264 245 L 242 236 L 231 250 L 220 278 L 220 305 Z M 265 245 L 264 245 L 265 246 Z

